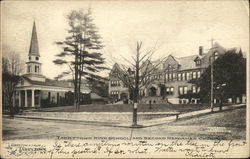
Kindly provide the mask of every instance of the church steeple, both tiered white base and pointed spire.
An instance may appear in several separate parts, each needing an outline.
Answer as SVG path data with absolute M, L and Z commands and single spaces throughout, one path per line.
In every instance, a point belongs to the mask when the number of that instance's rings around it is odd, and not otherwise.
M 30 49 L 29 49 L 29 61 L 26 62 L 27 64 L 27 74 L 26 77 L 30 78 L 34 81 L 45 81 L 45 77 L 41 74 L 41 63 L 39 62 L 40 54 L 39 54 L 39 47 L 38 47 L 38 39 L 37 39 L 37 32 L 36 32 L 36 23 L 34 21 L 31 41 L 30 41 Z

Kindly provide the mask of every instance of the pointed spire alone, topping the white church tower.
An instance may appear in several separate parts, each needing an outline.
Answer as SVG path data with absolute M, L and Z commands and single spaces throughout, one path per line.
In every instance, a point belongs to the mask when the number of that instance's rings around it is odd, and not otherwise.
M 33 29 L 32 29 L 32 36 L 30 41 L 30 50 L 29 56 L 40 56 L 39 49 L 38 49 L 38 40 L 37 40 L 37 33 L 36 33 L 36 23 L 34 21 Z

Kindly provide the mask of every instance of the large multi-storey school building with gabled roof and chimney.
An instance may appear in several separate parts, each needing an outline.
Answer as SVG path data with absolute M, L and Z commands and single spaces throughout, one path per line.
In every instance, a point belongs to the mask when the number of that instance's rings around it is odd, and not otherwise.
M 237 53 L 241 53 L 240 48 L 232 49 L 235 49 Z M 153 82 L 139 90 L 140 102 L 198 103 L 198 98 L 188 101 L 188 99 L 182 99 L 179 96 L 187 94 L 188 91 L 199 93 L 200 88 L 188 83 L 188 81 L 200 78 L 204 70 L 211 64 L 211 59 L 216 60 L 219 56 L 225 54 L 227 50 L 229 49 L 215 43 L 213 48 L 210 48 L 207 52 L 204 52 L 203 47 L 200 46 L 198 53 L 192 56 L 175 57 L 169 55 L 162 65 L 155 68 L 152 75 L 146 78 L 153 79 Z M 144 63 L 148 62 L 154 63 L 153 61 L 144 61 Z M 109 95 L 115 101 L 121 101 L 129 97 L 128 88 L 117 78 L 119 71 L 122 70 L 116 63 L 109 74 Z

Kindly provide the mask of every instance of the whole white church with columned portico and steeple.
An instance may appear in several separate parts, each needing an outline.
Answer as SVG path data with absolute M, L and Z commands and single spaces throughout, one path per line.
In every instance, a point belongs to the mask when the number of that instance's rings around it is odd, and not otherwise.
M 74 85 L 72 81 L 51 80 L 42 75 L 35 22 L 28 57 L 27 73 L 22 76 L 17 85 L 15 105 L 24 108 L 73 105 Z M 82 83 L 81 88 L 81 104 L 91 103 L 91 90 L 85 83 Z

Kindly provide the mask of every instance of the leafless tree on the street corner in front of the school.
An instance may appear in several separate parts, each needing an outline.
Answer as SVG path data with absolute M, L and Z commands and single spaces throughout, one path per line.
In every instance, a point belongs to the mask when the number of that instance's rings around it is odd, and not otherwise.
M 159 65 L 162 64 L 165 58 L 152 61 L 157 47 L 142 51 L 142 42 L 137 42 L 136 54 L 132 56 L 132 60 L 123 58 L 129 63 L 129 66 L 121 65 L 120 71 L 117 73 L 124 85 L 133 93 L 133 126 L 137 126 L 137 105 L 139 100 L 139 90 L 142 87 L 149 85 L 157 79 L 152 78 Z

